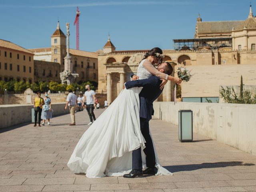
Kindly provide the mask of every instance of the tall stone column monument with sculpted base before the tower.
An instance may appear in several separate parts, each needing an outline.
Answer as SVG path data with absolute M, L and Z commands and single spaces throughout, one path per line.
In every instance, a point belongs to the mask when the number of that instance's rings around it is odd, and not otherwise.
M 73 83 L 75 78 L 78 77 L 77 73 L 73 73 L 72 58 L 69 55 L 69 23 L 66 23 L 67 28 L 67 55 L 64 57 L 64 71 L 60 72 L 60 80 L 62 84 L 65 82 L 70 85 Z

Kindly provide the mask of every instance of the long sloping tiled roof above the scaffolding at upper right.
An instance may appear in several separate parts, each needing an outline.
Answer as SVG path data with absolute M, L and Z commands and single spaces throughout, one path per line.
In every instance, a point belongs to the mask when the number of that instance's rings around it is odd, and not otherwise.
M 223 33 L 230 32 L 244 21 L 214 21 L 214 22 L 198 22 L 198 34 L 202 33 Z

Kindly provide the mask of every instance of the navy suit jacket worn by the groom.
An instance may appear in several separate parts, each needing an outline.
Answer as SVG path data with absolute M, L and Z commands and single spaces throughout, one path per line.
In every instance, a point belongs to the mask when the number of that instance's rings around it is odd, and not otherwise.
M 146 120 L 152 119 L 154 115 L 153 102 L 158 98 L 163 90 L 160 90 L 160 84 L 162 81 L 156 76 L 152 76 L 148 79 L 128 81 L 125 83 L 126 89 L 132 87 L 143 87 L 140 96 L 140 117 L 146 118 Z

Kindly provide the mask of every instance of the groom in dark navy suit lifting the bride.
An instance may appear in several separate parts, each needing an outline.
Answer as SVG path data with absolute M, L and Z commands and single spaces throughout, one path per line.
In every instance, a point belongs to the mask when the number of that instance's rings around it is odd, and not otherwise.
M 158 71 L 165 74 L 172 74 L 173 68 L 169 63 L 162 63 L 158 66 Z M 125 174 L 125 178 L 134 178 L 143 174 L 156 174 L 157 168 L 155 167 L 155 152 L 152 139 L 149 133 L 149 121 L 154 115 L 153 102 L 162 93 L 160 90 L 160 84 L 162 80 L 156 76 L 152 76 L 148 79 L 134 80 L 126 82 L 124 85 L 126 89 L 133 87 L 143 87 L 140 92 L 140 130 L 146 140 L 146 148 L 144 153 L 146 155 L 146 170 L 142 172 L 142 156 L 141 149 L 138 148 L 132 151 L 132 171 L 129 174 Z

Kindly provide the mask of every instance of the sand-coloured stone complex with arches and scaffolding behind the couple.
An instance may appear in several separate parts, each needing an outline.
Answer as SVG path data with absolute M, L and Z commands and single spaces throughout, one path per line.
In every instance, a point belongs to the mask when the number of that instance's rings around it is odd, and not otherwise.
M 170 62 L 174 70 L 184 65 L 193 74 L 190 82 L 182 83 L 184 101 L 206 100 L 207 97 L 218 100 L 219 86 L 239 85 L 241 75 L 248 77 L 244 78 L 245 84 L 256 84 L 256 18 L 251 6 L 246 20 L 202 22 L 198 15 L 194 38 L 173 42 L 173 50 L 163 50 L 164 60 Z M 147 51 L 117 51 L 108 39 L 98 55 L 101 69 L 98 92 L 107 94 L 108 103 L 118 96 L 130 75 L 136 74 L 138 64 Z M 172 85 L 171 82 L 166 84 L 159 100 L 174 100 Z

